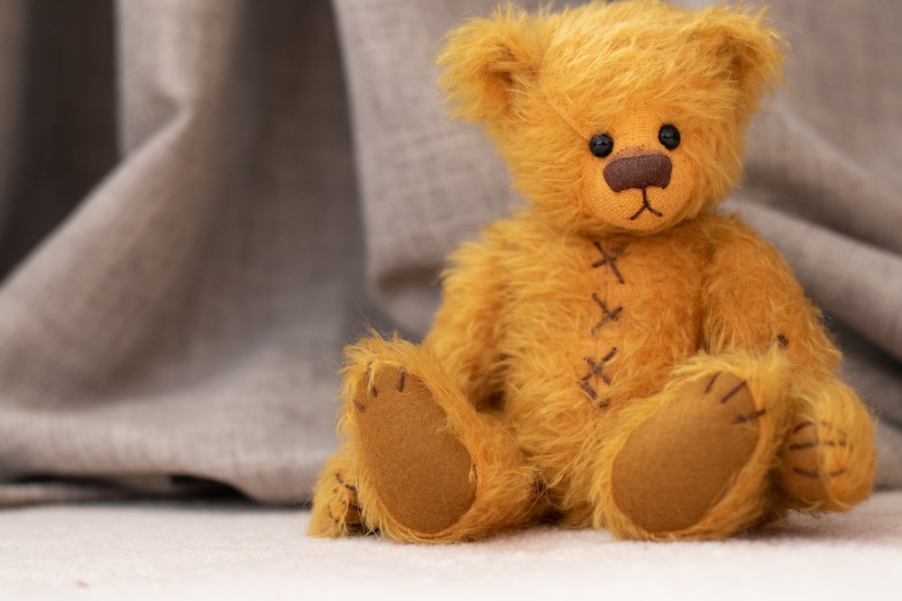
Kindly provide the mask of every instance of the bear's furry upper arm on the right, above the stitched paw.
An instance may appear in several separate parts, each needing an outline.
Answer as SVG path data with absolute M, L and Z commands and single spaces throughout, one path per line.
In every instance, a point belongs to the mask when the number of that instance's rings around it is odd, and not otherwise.
M 707 351 L 778 345 L 796 374 L 833 373 L 840 353 L 778 251 L 738 219 L 715 217 L 707 225 L 713 242 L 704 292 Z

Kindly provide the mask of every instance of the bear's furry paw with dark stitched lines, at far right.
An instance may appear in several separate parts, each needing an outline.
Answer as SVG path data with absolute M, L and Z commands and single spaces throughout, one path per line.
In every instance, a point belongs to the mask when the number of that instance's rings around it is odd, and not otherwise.
M 870 496 L 874 425 L 850 387 L 836 378 L 792 391 L 796 409 L 779 451 L 778 487 L 787 507 L 842 511 Z

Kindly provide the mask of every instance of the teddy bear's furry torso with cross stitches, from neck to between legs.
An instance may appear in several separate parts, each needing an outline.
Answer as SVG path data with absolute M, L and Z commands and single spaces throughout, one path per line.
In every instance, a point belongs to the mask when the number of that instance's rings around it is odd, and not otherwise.
M 704 348 L 705 219 L 643 237 L 554 235 L 517 220 L 495 230 L 511 250 L 496 408 L 556 505 L 591 488 L 594 469 L 581 461 L 594 454 L 580 449 L 606 438 L 607 416 L 657 393 Z M 590 519 L 591 505 L 564 505 L 574 524 Z

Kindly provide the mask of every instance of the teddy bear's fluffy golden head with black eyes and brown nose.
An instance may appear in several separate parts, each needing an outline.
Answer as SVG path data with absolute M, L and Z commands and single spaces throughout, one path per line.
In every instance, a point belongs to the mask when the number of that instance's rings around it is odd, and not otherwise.
M 737 183 L 781 45 L 762 14 L 596 1 L 499 9 L 451 32 L 438 62 L 456 114 L 485 123 L 549 223 L 653 233 Z

